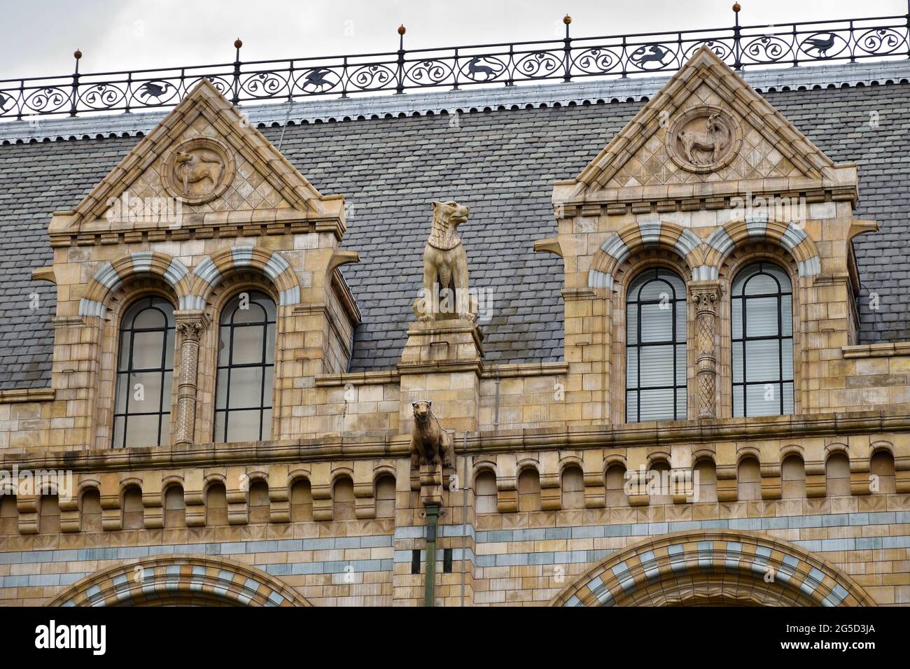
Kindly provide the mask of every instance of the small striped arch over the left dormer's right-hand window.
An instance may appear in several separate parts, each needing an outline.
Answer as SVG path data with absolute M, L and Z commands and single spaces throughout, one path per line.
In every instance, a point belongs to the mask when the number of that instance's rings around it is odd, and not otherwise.
M 218 251 L 193 269 L 192 281 L 180 309 L 205 309 L 213 289 L 235 269 L 258 269 L 278 289 L 282 306 L 300 303 L 300 284 L 297 272 L 278 251 L 254 246 L 236 246 Z

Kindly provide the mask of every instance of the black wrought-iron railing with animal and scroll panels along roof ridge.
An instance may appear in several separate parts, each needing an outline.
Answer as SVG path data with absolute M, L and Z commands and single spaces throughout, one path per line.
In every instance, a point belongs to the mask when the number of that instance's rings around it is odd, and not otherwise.
M 401 26 L 398 51 L 279 61 L 241 61 L 238 39 L 233 63 L 97 74 L 79 72 L 76 51 L 72 75 L 0 80 L 0 119 L 173 106 L 202 77 L 238 104 L 639 76 L 676 70 L 702 45 L 736 69 L 910 57 L 910 7 L 906 15 L 747 26 L 739 5 L 733 12 L 725 28 L 581 38 L 571 37 L 566 16 L 561 39 L 436 49 L 405 49 Z

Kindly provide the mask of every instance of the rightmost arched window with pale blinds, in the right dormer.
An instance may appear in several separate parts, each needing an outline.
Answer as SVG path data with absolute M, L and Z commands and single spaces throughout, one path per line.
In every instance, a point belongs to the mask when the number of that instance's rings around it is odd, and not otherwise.
M 793 288 L 787 273 L 756 262 L 733 279 L 733 416 L 794 411 Z

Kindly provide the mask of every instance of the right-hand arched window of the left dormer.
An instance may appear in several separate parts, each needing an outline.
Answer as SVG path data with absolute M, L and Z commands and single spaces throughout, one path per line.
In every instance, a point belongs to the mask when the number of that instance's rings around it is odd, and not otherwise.
M 261 441 L 272 432 L 275 302 L 263 292 L 238 294 L 221 313 L 215 441 Z

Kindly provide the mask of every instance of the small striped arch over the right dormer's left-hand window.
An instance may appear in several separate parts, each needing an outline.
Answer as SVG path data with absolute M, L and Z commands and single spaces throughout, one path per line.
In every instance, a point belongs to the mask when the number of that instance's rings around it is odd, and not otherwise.
M 644 247 L 672 250 L 692 270 L 693 279 L 704 278 L 697 274 L 704 264 L 702 240 L 689 228 L 676 223 L 649 221 L 631 223 L 604 239 L 588 270 L 588 287 L 612 289 L 615 270 L 633 252 Z

